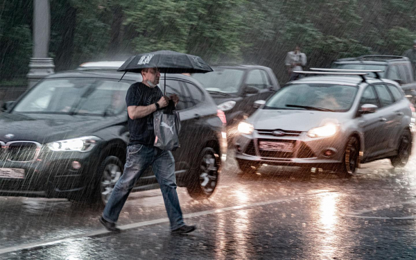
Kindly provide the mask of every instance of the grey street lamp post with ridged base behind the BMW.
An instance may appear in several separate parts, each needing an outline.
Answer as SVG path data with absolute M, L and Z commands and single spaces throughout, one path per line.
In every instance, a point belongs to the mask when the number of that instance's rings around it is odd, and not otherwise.
M 51 8 L 49 0 L 33 0 L 33 54 L 27 74 L 29 88 L 40 79 L 54 73 L 53 59 L 49 58 Z

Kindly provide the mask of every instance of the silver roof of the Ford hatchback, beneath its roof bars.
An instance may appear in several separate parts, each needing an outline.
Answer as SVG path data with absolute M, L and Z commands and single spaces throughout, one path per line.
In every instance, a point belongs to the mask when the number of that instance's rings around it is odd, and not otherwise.
M 381 80 L 376 78 L 365 78 L 365 83 L 380 83 Z M 299 80 L 291 81 L 289 84 L 301 83 L 328 83 L 328 84 L 343 84 L 343 85 L 361 85 L 363 78 L 360 76 L 307 76 Z

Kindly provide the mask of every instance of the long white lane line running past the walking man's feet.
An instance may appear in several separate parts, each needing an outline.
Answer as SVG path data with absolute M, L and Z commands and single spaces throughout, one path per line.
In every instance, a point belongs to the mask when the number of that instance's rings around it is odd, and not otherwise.
M 270 205 L 270 204 L 279 203 L 279 202 L 287 202 L 287 201 L 291 201 L 291 200 L 310 199 L 310 198 L 305 198 L 305 196 L 312 197 L 312 196 L 318 196 L 320 194 L 330 193 L 330 192 L 333 192 L 333 191 L 320 191 L 320 192 L 315 192 L 315 193 L 306 193 L 304 195 L 288 196 L 286 198 L 281 198 L 281 199 L 278 199 L 278 200 L 268 200 L 268 201 L 264 201 L 264 202 L 254 202 L 254 203 L 251 203 L 251 204 L 248 204 L 248 205 L 224 207 L 224 208 L 221 208 L 221 209 L 210 209 L 210 210 L 206 210 L 206 211 L 199 211 L 199 212 L 194 212 L 194 213 L 190 213 L 190 214 L 184 214 L 184 218 L 195 218 L 195 217 L 198 217 L 198 216 L 205 216 L 205 215 L 209 215 L 209 214 L 218 214 L 218 213 L 223 213 L 223 212 L 226 212 L 226 211 L 233 211 L 233 210 L 237 210 L 237 209 L 245 209 L 245 208 L 250 208 L 250 207 L 259 207 L 259 206 Z M 97 220 L 98 220 L 98 218 L 97 218 Z M 155 219 L 155 220 L 142 221 L 142 222 L 127 224 L 127 225 L 120 225 L 119 228 L 122 229 L 122 230 L 127 230 L 127 229 L 133 229 L 133 228 L 137 228 L 137 227 L 144 227 L 144 226 L 147 226 L 147 225 L 155 225 L 155 224 L 166 223 L 166 222 L 169 222 L 168 218 L 159 218 L 159 219 Z M 69 241 L 69 240 L 73 240 L 73 239 L 80 239 L 80 238 L 85 238 L 85 237 L 98 236 L 98 235 L 107 234 L 107 233 L 111 233 L 111 232 L 107 231 L 106 229 L 101 229 L 101 230 L 97 230 L 97 231 L 93 231 L 93 232 L 66 236 L 66 237 L 63 237 L 63 238 L 60 238 L 60 239 L 51 239 L 51 240 L 42 241 L 42 242 L 24 243 L 24 244 L 21 244 L 21 245 L 15 245 L 15 246 L 11 246 L 11 247 L 8 247 L 8 248 L 0 248 L 0 254 L 6 254 L 6 253 L 10 253 L 10 252 L 19 251 L 19 250 L 28 250 L 28 249 L 31 249 L 31 248 L 41 248 L 41 247 L 44 247 L 46 245 L 55 245 L 55 244 L 62 243 L 62 242 L 65 242 L 65 241 Z

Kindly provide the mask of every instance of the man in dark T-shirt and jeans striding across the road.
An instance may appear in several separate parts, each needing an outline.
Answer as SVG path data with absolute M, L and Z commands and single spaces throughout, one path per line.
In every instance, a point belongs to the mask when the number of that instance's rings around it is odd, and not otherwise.
M 168 98 L 163 96 L 162 91 L 157 87 L 160 72 L 156 68 L 143 69 L 141 76 L 143 81 L 131 85 L 125 96 L 130 132 L 127 159 L 123 175 L 117 181 L 110 199 L 105 205 L 100 222 L 110 231 L 120 231 L 116 227 L 116 221 L 125 200 L 127 200 L 135 182 L 151 165 L 162 190 L 166 212 L 171 223 L 171 232 L 175 234 L 193 232 L 196 227 L 185 225 L 182 218 L 182 210 L 176 192 L 173 155 L 171 151 L 153 146 L 155 143 L 153 112 L 168 105 Z M 176 95 L 172 95 L 171 99 L 175 104 L 179 101 Z

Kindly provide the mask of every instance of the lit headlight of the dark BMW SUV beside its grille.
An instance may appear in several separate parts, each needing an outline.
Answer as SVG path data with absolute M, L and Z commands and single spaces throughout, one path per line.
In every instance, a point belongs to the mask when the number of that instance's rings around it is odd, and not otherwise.
M 101 140 L 98 137 L 80 137 L 74 139 L 67 139 L 61 141 L 54 141 L 52 143 L 46 144 L 46 146 L 55 151 L 55 152 L 64 152 L 64 151 L 78 151 L 78 152 L 88 152 L 94 146 L 96 146 L 97 141 Z

